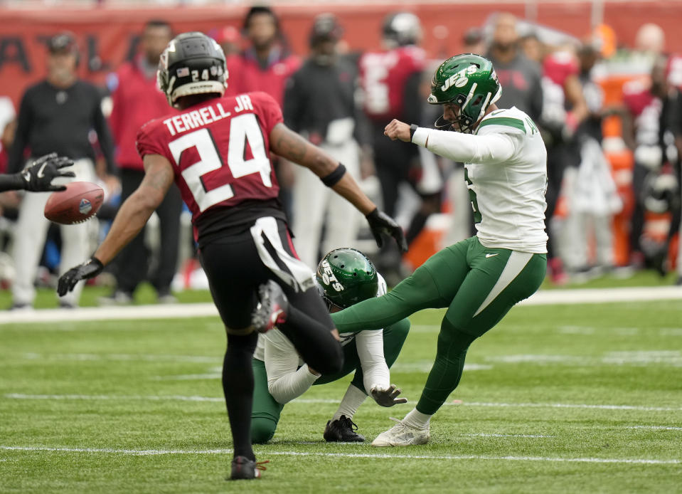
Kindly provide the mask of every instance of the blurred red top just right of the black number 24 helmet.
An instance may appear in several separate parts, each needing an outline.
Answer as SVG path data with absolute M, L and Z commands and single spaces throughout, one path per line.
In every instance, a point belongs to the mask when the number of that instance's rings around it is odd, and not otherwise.
M 252 51 L 245 51 L 240 55 L 227 59 L 229 95 L 262 91 L 282 107 L 284 103 L 284 85 L 294 72 L 299 70 L 301 60 L 297 56 L 279 56 L 273 52 L 272 61 L 263 69 Z

